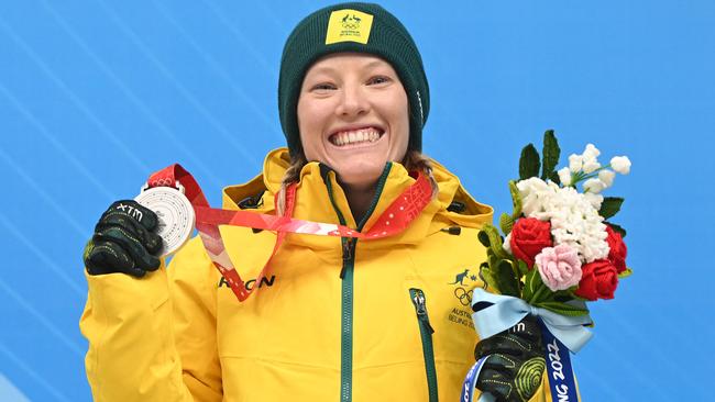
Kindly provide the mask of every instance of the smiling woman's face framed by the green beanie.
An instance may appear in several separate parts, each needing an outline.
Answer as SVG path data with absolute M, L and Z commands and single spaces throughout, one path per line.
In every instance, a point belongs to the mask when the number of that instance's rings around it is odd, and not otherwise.
M 382 58 L 340 53 L 314 64 L 298 98 L 300 142 L 308 160 L 332 167 L 343 183 L 374 186 L 387 161 L 407 153 L 407 94 Z

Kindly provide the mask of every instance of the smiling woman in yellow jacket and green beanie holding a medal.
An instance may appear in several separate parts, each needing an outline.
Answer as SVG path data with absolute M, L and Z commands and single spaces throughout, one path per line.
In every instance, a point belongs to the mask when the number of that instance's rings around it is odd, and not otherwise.
M 288 147 L 223 199 L 316 233 L 280 244 L 285 233 L 222 227 L 227 253 L 216 258 L 232 258 L 241 278 L 258 277 L 272 256 L 268 275 L 245 282 L 256 294 L 239 302 L 239 284 L 209 257 L 215 245 L 194 238 L 163 269 L 156 215 L 112 204 L 85 252 L 80 326 L 95 399 L 457 401 L 475 345 L 494 355 L 479 389 L 548 398 L 535 325 L 477 344 L 460 319 L 473 289 L 486 288 L 476 234 L 492 209 L 421 153 L 429 101 L 417 46 L 383 8 L 343 3 L 304 19 L 280 64 Z M 328 236 L 321 223 L 349 228 Z

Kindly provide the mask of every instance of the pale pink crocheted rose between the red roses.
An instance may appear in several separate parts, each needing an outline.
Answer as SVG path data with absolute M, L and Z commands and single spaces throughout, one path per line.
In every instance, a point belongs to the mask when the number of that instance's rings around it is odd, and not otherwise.
M 581 280 L 581 259 L 568 244 L 546 247 L 535 258 L 541 280 L 551 290 L 564 290 Z

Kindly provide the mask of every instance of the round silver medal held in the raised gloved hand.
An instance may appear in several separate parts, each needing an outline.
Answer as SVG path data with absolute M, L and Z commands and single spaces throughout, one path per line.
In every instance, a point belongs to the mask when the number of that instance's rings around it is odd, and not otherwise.
M 134 201 L 148 208 L 158 217 L 156 234 L 162 237 L 162 256 L 174 254 L 191 236 L 196 215 L 194 206 L 184 196 L 184 187 L 177 182 L 173 187 L 143 188 Z

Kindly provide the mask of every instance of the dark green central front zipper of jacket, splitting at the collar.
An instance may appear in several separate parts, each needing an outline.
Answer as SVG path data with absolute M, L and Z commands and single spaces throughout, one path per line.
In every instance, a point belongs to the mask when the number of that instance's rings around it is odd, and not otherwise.
M 372 215 L 380 196 L 383 192 L 385 187 L 385 181 L 387 180 L 387 174 L 392 168 L 392 163 L 385 165 L 382 176 L 377 180 L 377 191 L 375 191 L 375 197 L 373 198 L 370 209 L 365 213 L 365 216 L 358 224 L 358 231 L 362 231 L 363 226 L 367 222 L 370 215 Z M 330 198 L 330 203 L 338 214 L 338 220 L 341 225 L 345 225 L 345 216 L 340 212 L 338 204 L 333 199 L 332 194 L 332 182 L 330 179 L 326 180 L 326 186 L 328 187 L 328 196 Z M 341 289 L 341 320 L 340 320 L 340 402 L 351 402 L 352 401 L 352 345 L 353 345 L 353 270 L 355 267 L 355 246 L 358 239 L 353 237 L 342 237 L 342 267 L 340 269 L 340 278 L 342 279 L 342 289 Z

